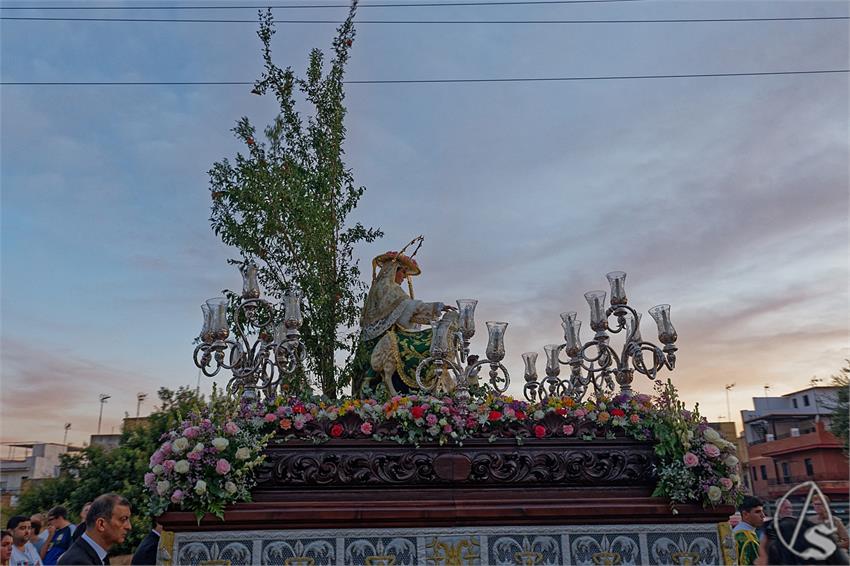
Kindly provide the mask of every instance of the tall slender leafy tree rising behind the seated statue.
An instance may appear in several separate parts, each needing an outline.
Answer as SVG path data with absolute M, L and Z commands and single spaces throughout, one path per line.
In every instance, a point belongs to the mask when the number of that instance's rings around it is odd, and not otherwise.
M 258 263 L 269 295 L 279 299 L 294 288 L 303 293 L 306 367 L 330 398 L 350 381 L 365 297 L 354 246 L 383 235 L 347 223 L 365 191 L 355 186 L 343 162 L 343 76 L 354 41 L 356 4 L 337 30 L 327 72 L 324 53 L 313 49 L 305 78 L 272 61 L 274 20 L 270 10 L 260 14 L 257 35 L 265 70 L 253 92 L 273 94 L 280 113 L 265 128 L 265 141 L 257 139 L 248 118 L 240 119 L 233 132 L 248 154 L 237 153 L 234 163 L 225 158 L 209 171 L 215 233 Z M 306 122 L 297 103 L 312 108 Z M 346 353 L 341 367 L 335 363 L 338 351 Z M 304 384 L 287 385 L 301 389 Z

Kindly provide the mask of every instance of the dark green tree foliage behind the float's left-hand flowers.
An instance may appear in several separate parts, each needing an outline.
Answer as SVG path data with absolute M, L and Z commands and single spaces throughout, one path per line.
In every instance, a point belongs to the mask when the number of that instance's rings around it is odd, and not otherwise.
M 17 512 L 32 514 L 46 512 L 55 505 L 64 505 L 71 513 L 69 520 L 79 520 L 83 505 L 95 497 L 109 492 L 119 493 L 130 501 L 133 529 L 112 554 L 132 553 L 147 535 L 151 526 L 148 515 L 148 494 L 144 475 L 148 471 L 150 455 L 159 445 L 159 438 L 190 412 L 199 410 L 203 397 L 194 389 L 181 387 L 177 391 L 161 388 L 159 409 L 153 412 L 143 426 L 125 430 L 117 448 L 104 450 L 89 446 L 81 452 L 61 456 L 58 478 L 44 480 L 25 491 L 18 502 Z M 228 401 L 214 391 L 213 404 Z

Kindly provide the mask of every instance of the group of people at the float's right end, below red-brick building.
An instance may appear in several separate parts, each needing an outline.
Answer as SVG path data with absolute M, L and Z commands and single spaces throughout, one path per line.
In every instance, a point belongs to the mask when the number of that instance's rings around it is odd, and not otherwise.
M 766 517 L 764 502 L 746 496 L 738 507 L 732 533 L 740 566 L 769 564 L 848 564 L 850 537 L 841 519 L 830 515 L 829 501 L 814 497 L 814 515 L 794 516 L 791 502 L 778 502 L 775 517 Z

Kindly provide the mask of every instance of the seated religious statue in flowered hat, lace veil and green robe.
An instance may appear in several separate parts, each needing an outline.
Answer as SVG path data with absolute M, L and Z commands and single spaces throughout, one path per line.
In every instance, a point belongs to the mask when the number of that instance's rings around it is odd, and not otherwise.
M 360 321 L 353 395 L 362 395 L 365 388 L 374 391 L 381 383 L 391 395 L 417 389 L 416 368 L 428 357 L 433 334 L 433 328 L 420 330 L 419 325 L 438 320 L 444 312 L 448 313 L 445 323 L 457 323 L 454 307 L 413 297 L 412 277 L 422 273 L 413 256 L 422 240 L 419 236 L 400 251 L 372 260 L 372 286 Z M 414 243 L 416 249 L 405 255 Z M 401 287 L 405 279 L 407 293 Z M 433 370 L 431 374 L 433 379 Z

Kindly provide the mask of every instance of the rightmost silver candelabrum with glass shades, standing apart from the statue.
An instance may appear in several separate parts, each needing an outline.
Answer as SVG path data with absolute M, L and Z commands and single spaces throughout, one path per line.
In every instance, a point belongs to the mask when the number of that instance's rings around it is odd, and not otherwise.
M 611 285 L 611 302 L 607 309 L 604 307 L 605 291 L 590 291 L 584 295 L 590 307 L 590 328 L 596 332 L 592 340 L 582 343 L 581 321 L 577 320 L 575 312 L 564 312 L 561 313 L 564 343 L 544 346 L 546 378 L 542 382 L 537 382 L 536 353 L 523 354 L 524 393 L 529 401 L 543 402 L 550 396 L 569 396 L 578 402 L 590 385 L 593 385 L 596 395 L 613 393 L 617 385 L 620 393 L 631 395 L 635 373 L 656 380 L 662 369 L 672 371 L 676 367 L 675 343 L 678 335 L 670 322 L 670 305 L 649 309 L 658 326 L 658 340 L 664 345 L 661 348 L 641 337 L 641 314 L 628 305 L 625 272 L 612 271 L 607 278 Z M 613 324 L 609 322 L 612 316 Z M 625 343 L 619 351 L 609 345 L 609 332 L 624 334 Z M 565 359 L 561 357 L 562 352 Z M 647 364 L 649 356 L 645 357 L 645 354 L 651 354 L 651 365 Z M 563 379 L 560 378 L 561 365 L 570 366 L 569 376 Z

